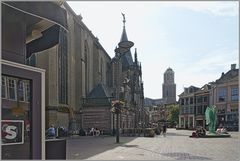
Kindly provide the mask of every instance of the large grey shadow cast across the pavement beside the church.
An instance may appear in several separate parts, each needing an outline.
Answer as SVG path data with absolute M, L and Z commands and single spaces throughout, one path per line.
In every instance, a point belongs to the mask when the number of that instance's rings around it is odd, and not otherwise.
M 112 150 L 116 147 L 136 147 L 125 145 L 137 137 L 120 137 L 120 143 L 116 143 L 116 137 L 82 136 L 67 140 L 67 159 L 87 159 L 94 155 Z

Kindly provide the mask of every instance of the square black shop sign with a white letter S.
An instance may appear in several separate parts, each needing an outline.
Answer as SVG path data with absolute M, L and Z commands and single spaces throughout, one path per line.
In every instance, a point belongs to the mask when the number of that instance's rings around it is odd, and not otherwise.
M 2 145 L 24 143 L 24 121 L 2 120 Z

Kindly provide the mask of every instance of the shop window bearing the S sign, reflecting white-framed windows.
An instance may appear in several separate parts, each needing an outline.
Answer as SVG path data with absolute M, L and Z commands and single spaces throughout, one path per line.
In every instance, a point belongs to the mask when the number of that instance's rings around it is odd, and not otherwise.
M 30 100 L 30 81 L 26 79 L 2 76 L 6 99 L 1 106 L 2 112 L 2 159 L 29 159 L 31 157 L 31 103 L 16 104 L 16 101 Z M 27 86 L 26 86 L 27 85 Z M 30 94 L 30 93 L 28 93 Z M 14 106 L 12 106 L 14 104 Z M 15 129 L 8 132 L 9 128 Z M 10 136 L 10 137 L 6 137 Z

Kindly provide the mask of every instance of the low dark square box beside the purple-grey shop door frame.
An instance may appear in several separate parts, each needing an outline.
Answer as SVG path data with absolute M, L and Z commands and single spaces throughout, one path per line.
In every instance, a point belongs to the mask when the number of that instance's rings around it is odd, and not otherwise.
M 47 139 L 46 159 L 66 160 L 66 139 Z

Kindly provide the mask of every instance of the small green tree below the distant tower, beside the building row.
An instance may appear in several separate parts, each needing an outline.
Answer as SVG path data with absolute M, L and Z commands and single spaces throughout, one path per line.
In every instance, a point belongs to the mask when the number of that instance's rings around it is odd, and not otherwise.
M 171 127 L 175 127 L 179 120 L 179 104 L 167 106 L 168 115 L 167 120 Z

